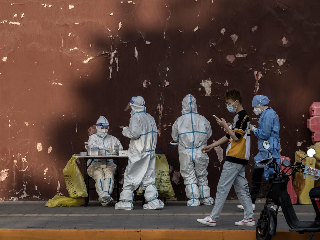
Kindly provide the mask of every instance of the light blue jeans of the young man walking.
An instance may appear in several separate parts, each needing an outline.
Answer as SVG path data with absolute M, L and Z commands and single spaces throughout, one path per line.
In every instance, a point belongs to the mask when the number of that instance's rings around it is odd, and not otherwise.
M 244 169 L 245 165 L 242 164 L 228 161 L 223 164 L 223 170 L 217 186 L 216 201 L 210 216 L 213 220 L 218 220 L 232 184 L 240 203 L 244 206 L 244 219 L 253 218 L 251 197 L 247 196 L 244 189 L 244 185 L 248 183 L 245 178 Z

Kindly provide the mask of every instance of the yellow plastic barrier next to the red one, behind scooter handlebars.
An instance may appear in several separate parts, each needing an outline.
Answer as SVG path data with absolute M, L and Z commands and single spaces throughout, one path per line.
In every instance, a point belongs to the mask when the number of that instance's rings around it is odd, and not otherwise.
M 300 163 L 300 159 L 306 157 L 307 154 L 302 151 L 297 151 L 295 155 L 295 163 Z M 316 167 L 316 159 L 314 157 L 306 157 L 303 160 L 303 163 L 315 168 Z M 302 172 L 297 172 L 293 181 L 293 188 L 296 191 L 298 196 L 299 204 L 311 204 L 311 200 L 309 197 L 309 191 L 311 188 L 315 187 L 315 180 L 310 178 L 306 178 L 303 176 Z

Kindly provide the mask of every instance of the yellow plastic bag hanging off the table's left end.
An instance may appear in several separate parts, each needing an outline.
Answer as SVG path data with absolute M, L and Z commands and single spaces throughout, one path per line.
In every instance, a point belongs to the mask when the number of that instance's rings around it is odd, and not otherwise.
M 88 193 L 85 187 L 85 182 L 76 164 L 76 160 L 77 157 L 73 155 L 63 169 L 63 176 L 66 181 L 68 193 L 72 198 L 87 197 Z

